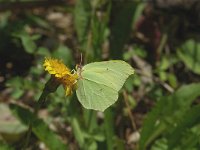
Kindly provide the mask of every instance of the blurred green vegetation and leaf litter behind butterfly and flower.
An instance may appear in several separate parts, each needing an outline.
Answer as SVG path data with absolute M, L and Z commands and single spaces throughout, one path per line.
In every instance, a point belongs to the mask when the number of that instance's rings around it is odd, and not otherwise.
M 0 149 L 199 150 L 199 37 L 199 0 L 0 0 Z M 118 101 L 86 110 L 59 87 L 33 114 L 44 57 L 81 53 L 135 68 Z

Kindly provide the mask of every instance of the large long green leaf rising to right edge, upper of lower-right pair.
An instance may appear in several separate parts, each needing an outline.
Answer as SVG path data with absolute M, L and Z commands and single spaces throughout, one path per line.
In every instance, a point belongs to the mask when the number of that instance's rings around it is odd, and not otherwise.
M 200 84 L 181 87 L 170 96 L 163 96 L 144 121 L 140 149 L 144 150 L 159 135 L 167 133 L 184 118 L 192 102 L 200 96 Z

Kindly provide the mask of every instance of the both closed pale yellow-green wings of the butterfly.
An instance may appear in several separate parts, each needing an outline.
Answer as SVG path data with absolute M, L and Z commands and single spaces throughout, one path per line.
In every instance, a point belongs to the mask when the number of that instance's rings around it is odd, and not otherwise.
M 118 91 L 131 74 L 133 68 L 120 60 L 87 64 L 80 71 L 78 100 L 87 109 L 104 111 L 117 101 Z

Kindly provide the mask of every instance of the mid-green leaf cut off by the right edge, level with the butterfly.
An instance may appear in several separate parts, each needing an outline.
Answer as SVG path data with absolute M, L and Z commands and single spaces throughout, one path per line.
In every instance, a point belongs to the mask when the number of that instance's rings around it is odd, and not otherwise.
M 200 74 L 200 43 L 195 40 L 186 41 L 177 51 L 180 59 L 194 73 Z

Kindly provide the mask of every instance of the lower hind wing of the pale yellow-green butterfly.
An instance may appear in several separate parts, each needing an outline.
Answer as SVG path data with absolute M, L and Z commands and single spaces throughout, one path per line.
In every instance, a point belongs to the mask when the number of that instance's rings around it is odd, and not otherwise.
M 76 94 L 85 108 L 99 111 L 104 111 L 118 98 L 116 90 L 87 79 L 78 81 Z

